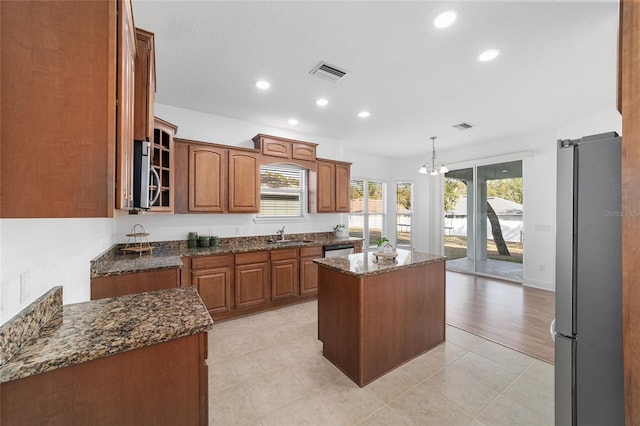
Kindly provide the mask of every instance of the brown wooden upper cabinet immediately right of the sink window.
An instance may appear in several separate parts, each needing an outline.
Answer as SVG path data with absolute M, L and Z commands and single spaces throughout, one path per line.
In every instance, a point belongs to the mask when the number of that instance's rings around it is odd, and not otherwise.
M 351 163 L 318 160 L 316 176 L 309 179 L 311 213 L 348 213 L 350 209 L 349 181 Z

